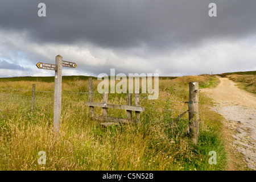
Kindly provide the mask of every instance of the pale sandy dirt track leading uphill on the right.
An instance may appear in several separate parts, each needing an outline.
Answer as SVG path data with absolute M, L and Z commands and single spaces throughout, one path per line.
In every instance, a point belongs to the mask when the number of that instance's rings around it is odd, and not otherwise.
M 243 154 L 247 167 L 256 170 L 256 97 L 228 78 L 218 78 L 221 82 L 216 88 L 201 89 L 200 93 L 213 98 L 212 109 L 225 117 L 225 130 L 233 137 L 228 140 L 229 150 Z

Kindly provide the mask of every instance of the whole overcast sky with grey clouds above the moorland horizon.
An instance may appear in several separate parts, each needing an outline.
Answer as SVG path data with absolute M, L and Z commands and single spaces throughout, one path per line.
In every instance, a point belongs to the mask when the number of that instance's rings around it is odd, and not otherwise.
M 36 63 L 57 55 L 77 63 L 63 75 L 253 71 L 255 8 L 252 0 L 0 0 L 0 77 L 53 76 Z

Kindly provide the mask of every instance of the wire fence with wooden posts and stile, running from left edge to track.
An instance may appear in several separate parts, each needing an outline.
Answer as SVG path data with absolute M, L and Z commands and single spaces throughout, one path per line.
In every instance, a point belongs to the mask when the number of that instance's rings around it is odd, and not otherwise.
M 113 121 L 113 119 L 115 122 L 125 123 L 127 121 L 135 121 L 138 123 L 141 123 L 141 121 L 160 121 L 163 123 L 167 123 L 167 126 L 170 126 L 173 123 L 177 124 L 175 123 L 177 121 L 182 121 L 187 125 L 187 130 L 189 135 L 191 135 L 192 142 L 197 143 L 197 140 L 199 138 L 200 121 L 198 107 L 200 90 L 198 82 L 189 82 L 188 101 L 175 100 L 175 97 L 170 99 L 170 96 L 168 96 L 168 94 L 166 96 L 167 98 L 157 98 L 156 100 L 152 101 L 148 100 L 147 97 L 143 97 L 142 95 L 134 94 L 133 98 L 135 107 L 132 106 L 132 99 L 130 93 L 115 94 L 114 97 L 109 97 L 109 94 L 103 93 L 102 97 L 94 97 L 94 94 L 96 96 L 100 93 L 94 92 L 92 78 L 89 79 L 88 90 L 89 92 L 59 93 L 61 94 L 61 108 L 59 107 L 61 113 L 67 113 L 68 110 L 69 113 L 79 114 L 82 115 L 82 117 L 87 118 L 93 118 L 95 113 L 95 116 L 98 116 L 98 114 L 102 115 L 104 121 Z M 34 108 L 41 111 L 47 110 L 49 113 L 55 112 L 55 108 L 53 109 L 53 105 L 55 105 L 54 95 L 56 93 L 51 90 L 35 90 L 35 84 L 33 84 L 32 90 L 0 88 L 0 91 L 0 119 L 5 117 L 5 114 L 3 112 L 4 110 L 7 111 L 7 113 L 9 114 L 24 114 L 24 112 L 20 110 L 32 111 L 34 110 Z M 126 104 L 124 103 L 125 95 L 127 96 Z M 93 97 L 95 98 L 95 100 L 93 100 Z M 139 100 L 139 98 L 141 98 L 141 100 Z M 96 100 L 101 100 L 101 103 L 95 102 Z M 109 105 L 108 103 L 107 105 L 106 103 L 108 102 L 108 100 L 110 102 L 118 102 L 118 104 Z M 104 106 L 102 105 L 102 103 L 104 104 Z M 123 105 L 126 105 L 126 107 L 124 107 Z M 96 106 L 95 110 L 94 106 Z M 121 109 L 123 111 L 116 111 L 118 109 Z M 82 113 L 80 113 L 78 110 L 80 110 Z M 135 111 L 135 114 L 132 114 L 132 110 Z M 84 113 L 87 113 L 87 115 L 84 115 Z M 184 117 L 181 119 L 181 117 L 183 117 L 183 115 L 185 115 L 186 113 L 188 113 L 189 117 Z M 100 117 L 99 119 L 102 118 Z M 101 126 L 107 127 L 108 125 L 106 124 L 109 125 L 112 123 L 102 123 Z

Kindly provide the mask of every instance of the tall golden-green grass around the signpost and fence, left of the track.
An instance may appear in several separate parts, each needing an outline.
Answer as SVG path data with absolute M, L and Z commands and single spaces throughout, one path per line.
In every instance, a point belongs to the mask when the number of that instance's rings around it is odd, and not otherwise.
M 159 98 L 140 98 L 146 111 L 141 125 L 100 127 L 89 119 L 82 102 L 88 94 L 63 93 L 60 135 L 53 133 L 53 93 L 36 93 L 31 110 L 31 92 L 0 90 L 0 169 L 1 170 L 221 170 L 226 156 L 220 136 L 221 118 L 209 111 L 210 101 L 200 96 L 200 138 L 194 146 L 186 134 L 188 115 L 172 123 L 187 104 L 188 80 L 207 82 L 205 76 L 160 80 Z M 97 90 L 100 81 L 93 80 Z M 0 82 L 0 88 L 53 90 L 47 82 Z M 87 92 L 85 80 L 66 81 L 63 91 Z M 16 100 L 16 96 L 19 100 Z M 146 94 L 142 94 L 142 97 Z M 94 94 L 101 102 L 102 95 Z M 109 102 L 126 104 L 126 94 L 109 94 Z M 134 104 L 134 98 L 133 98 Z M 203 110 L 201 110 L 203 109 Z M 95 109 L 101 114 L 101 109 Z M 126 117 L 123 110 L 110 110 L 113 117 Z M 133 114 L 134 117 L 134 114 Z M 217 165 L 208 163 L 208 152 L 217 152 Z M 46 152 L 46 164 L 38 163 L 39 151 Z

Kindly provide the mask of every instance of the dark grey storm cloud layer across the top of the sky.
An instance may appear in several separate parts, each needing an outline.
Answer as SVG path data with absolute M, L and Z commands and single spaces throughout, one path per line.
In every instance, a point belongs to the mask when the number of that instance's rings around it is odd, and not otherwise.
M 46 3 L 46 17 L 38 4 Z M 208 5 L 217 4 L 217 17 Z M 204 40 L 240 39 L 256 30 L 256 1 L 1 1 L 0 28 L 27 31 L 32 42 L 162 50 Z

